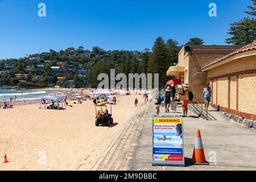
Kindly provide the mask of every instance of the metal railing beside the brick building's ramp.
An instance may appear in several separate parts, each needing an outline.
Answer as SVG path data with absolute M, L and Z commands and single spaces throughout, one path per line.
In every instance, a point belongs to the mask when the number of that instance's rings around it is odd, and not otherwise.
M 214 118 L 208 111 L 208 108 L 205 108 L 203 102 L 199 102 L 198 100 L 195 99 L 195 97 L 198 97 L 200 100 L 203 100 L 202 97 L 198 96 L 197 94 L 194 94 L 194 98 L 193 100 L 190 102 L 190 104 L 192 105 L 192 107 L 194 109 L 197 110 L 197 112 L 199 113 L 200 117 L 203 117 L 206 120 L 210 120 L 210 121 L 216 121 L 217 119 Z

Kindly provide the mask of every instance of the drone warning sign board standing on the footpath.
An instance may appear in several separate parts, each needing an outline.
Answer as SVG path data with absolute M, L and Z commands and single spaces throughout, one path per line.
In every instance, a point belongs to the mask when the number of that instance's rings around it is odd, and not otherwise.
M 152 166 L 185 166 L 183 117 L 152 117 Z

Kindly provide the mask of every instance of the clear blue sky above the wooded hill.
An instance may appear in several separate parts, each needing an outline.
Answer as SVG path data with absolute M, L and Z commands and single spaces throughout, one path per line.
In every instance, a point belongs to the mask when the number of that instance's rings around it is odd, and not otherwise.
M 38 16 L 46 3 L 47 16 Z M 217 4 L 217 17 L 208 5 Z M 180 44 L 200 37 L 225 44 L 229 23 L 243 18 L 250 0 L 0 0 L 0 59 L 84 46 L 105 50 L 152 48 L 158 36 Z

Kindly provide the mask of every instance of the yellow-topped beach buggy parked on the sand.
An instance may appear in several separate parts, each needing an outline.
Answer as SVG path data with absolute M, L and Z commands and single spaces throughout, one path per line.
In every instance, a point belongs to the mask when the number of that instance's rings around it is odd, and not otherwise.
M 112 105 L 110 104 L 110 113 L 108 110 L 108 106 L 106 105 L 108 102 L 101 102 L 95 106 L 96 113 L 96 121 L 95 126 L 105 125 L 110 126 L 114 123 L 114 119 L 112 118 Z

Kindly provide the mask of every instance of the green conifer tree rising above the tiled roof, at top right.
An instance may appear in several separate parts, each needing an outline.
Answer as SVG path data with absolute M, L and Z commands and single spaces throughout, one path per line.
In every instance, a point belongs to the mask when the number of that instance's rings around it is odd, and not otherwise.
M 247 6 L 251 11 L 245 11 L 246 14 L 256 16 L 256 0 L 253 1 L 253 6 Z M 256 19 L 247 16 L 239 22 L 230 24 L 229 35 L 231 38 L 226 39 L 226 43 L 237 46 L 245 46 L 256 40 Z

